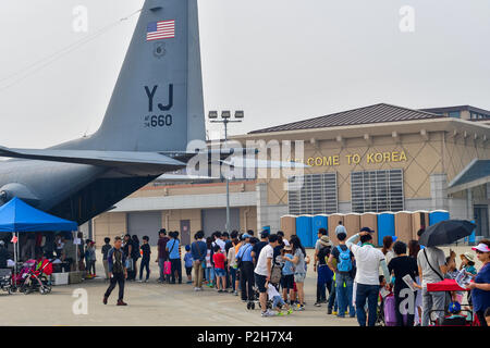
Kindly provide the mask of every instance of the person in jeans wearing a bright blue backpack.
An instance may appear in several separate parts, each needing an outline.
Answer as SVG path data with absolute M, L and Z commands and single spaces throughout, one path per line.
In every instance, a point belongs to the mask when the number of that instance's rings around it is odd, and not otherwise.
M 354 284 L 354 253 L 345 245 L 345 238 L 347 235 L 343 232 L 336 235 L 339 245 L 332 249 L 328 265 L 330 270 L 335 273 L 335 297 L 339 304 L 339 312 L 336 316 L 345 318 L 345 312 L 347 311 L 351 318 L 356 315 L 352 297 L 353 297 L 353 284 Z M 336 264 L 333 265 L 333 259 L 335 259 Z

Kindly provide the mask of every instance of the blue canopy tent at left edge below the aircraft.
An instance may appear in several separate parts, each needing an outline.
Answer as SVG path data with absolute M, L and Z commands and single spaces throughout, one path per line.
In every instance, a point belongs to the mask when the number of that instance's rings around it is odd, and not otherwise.
M 76 222 L 50 215 L 30 207 L 22 199 L 14 197 L 0 207 L 0 233 L 77 231 Z M 14 246 L 15 271 L 17 265 L 19 243 Z

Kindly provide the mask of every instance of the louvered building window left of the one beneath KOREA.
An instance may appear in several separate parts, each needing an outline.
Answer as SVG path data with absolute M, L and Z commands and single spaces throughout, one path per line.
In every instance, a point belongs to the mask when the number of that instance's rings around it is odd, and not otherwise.
M 293 215 L 336 213 L 336 172 L 287 178 L 287 200 Z

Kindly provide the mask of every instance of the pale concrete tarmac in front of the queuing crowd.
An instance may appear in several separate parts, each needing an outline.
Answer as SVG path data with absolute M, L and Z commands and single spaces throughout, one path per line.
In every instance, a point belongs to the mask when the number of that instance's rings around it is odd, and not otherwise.
M 448 249 L 445 252 L 449 253 Z M 469 250 L 468 247 L 454 248 L 457 254 Z M 156 251 L 156 250 L 155 250 Z M 313 256 L 313 250 L 308 250 Z M 156 252 L 152 253 L 156 256 Z M 327 306 L 317 308 L 316 273 L 308 268 L 305 281 L 306 310 L 293 312 L 289 316 L 261 318 L 260 310 L 247 310 L 240 296 L 218 294 L 216 289 L 206 288 L 200 293 L 193 290 L 193 285 L 157 284 L 158 266 L 151 261 L 149 283 L 126 282 L 124 300 L 127 307 L 117 307 L 118 288 L 114 289 L 109 303 L 102 303 L 102 296 L 108 283 L 103 279 L 100 251 L 97 252 L 97 273 L 100 278 L 87 279 L 81 284 L 53 286 L 52 293 L 40 295 L 13 294 L 0 290 L 0 325 L 122 325 L 122 326 L 260 326 L 260 325 L 305 325 L 305 326 L 355 326 L 357 321 L 339 319 L 327 314 Z M 458 258 L 457 258 L 458 261 Z M 87 314 L 75 314 L 73 307 L 78 298 L 74 291 L 85 289 L 87 294 Z M 75 311 L 76 312 L 76 311 Z

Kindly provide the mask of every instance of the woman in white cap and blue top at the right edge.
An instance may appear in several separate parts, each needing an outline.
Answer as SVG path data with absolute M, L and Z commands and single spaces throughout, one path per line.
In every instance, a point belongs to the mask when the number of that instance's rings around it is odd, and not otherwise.
M 485 312 L 490 308 L 490 239 L 482 239 L 473 247 L 477 259 L 483 264 L 467 288 L 471 290 L 473 311 L 478 316 L 481 326 L 487 326 Z

